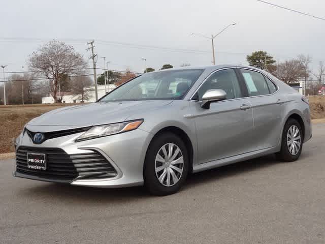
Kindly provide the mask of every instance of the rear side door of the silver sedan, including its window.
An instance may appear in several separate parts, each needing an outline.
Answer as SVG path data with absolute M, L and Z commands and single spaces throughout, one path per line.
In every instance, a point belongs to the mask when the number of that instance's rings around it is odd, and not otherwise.
M 239 69 L 247 87 L 253 112 L 253 140 L 255 150 L 278 145 L 282 130 L 281 121 L 286 114 L 287 98 L 264 74 Z

